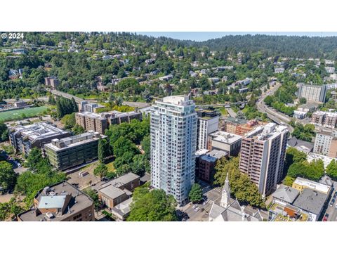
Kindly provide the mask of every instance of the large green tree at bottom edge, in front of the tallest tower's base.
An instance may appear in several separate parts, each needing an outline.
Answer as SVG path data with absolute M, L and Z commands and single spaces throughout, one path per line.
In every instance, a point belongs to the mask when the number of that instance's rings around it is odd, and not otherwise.
M 166 195 L 164 190 L 136 190 L 128 221 L 178 221 L 173 196 Z

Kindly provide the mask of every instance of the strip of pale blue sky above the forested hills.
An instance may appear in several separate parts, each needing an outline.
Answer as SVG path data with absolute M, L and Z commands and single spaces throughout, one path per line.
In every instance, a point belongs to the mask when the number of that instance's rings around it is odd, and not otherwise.
M 337 36 L 337 32 L 137 32 L 153 37 L 170 37 L 173 39 L 190 39 L 194 41 L 205 41 L 207 39 L 216 39 L 225 35 L 242 35 L 242 34 L 268 34 L 268 35 L 298 35 L 298 36 Z

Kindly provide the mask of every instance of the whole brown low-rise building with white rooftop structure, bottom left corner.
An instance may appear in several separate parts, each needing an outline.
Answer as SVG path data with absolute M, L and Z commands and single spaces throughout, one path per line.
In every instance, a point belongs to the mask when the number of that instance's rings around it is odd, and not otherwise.
M 19 221 L 95 221 L 93 200 L 67 181 L 39 190 Z

